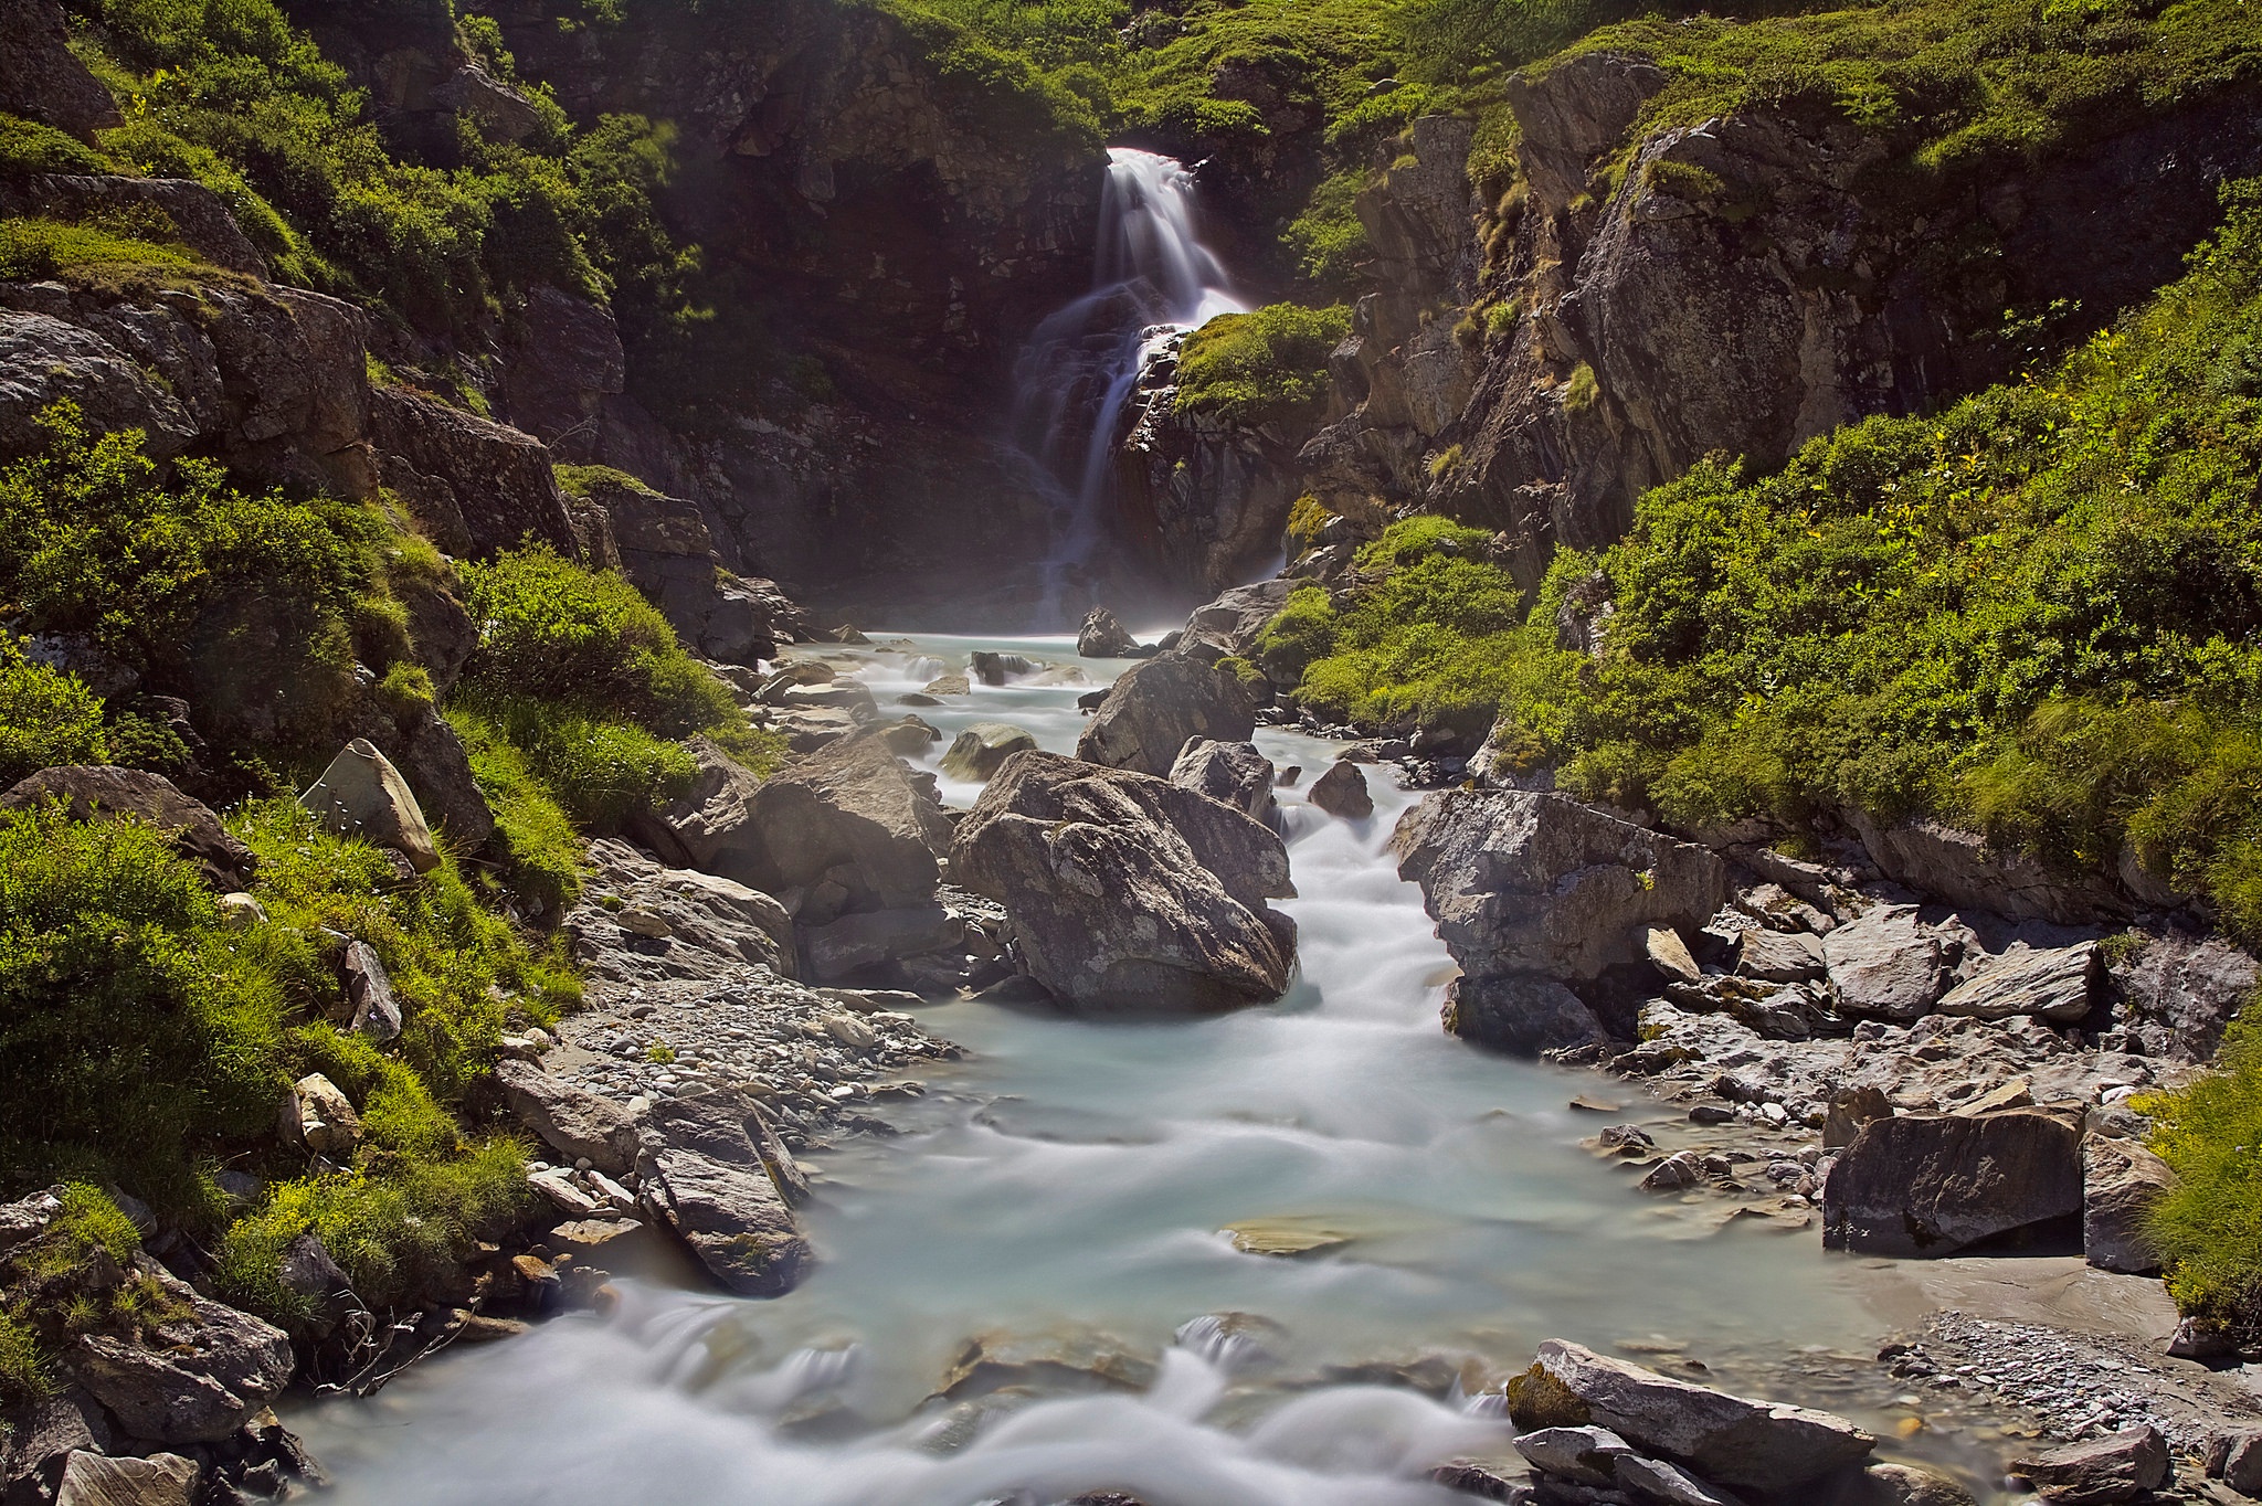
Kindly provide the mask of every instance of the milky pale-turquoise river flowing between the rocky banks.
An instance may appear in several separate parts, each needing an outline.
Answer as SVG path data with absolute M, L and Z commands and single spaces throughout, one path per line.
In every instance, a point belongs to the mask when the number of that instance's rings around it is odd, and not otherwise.
M 860 654 L 882 706 L 968 649 L 1093 681 L 1124 667 L 1061 638 L 903 642 Z M 946 744 L 1000 719 L 1072 751 L 1090 681 L 1043 678 L 921 715 Z M 1271 728 L 1258 746 L 1301 764 L 1298 787 L 1337 751 Z M 559 1318 L 375 1400 L 308 1409 L 294 1422 L 342 1506 L 1045 1506 L 1097 1490 L 1445 1506 L 1470 1497 L 1430 1468 L 1504 1452 L 1506 1422 L 1457 1388 L 1382 1382 L 1430 1357 L 1464 1366 L 1461 1388 L 1497 1386 L 1547 1336 L 1848 1411 L 1891 1452 L 1907 1413 L 1857 1364 L 1884 1323 L 1853 1262 L 1812 1232 L 1638 1192 L 1581 1140 L 1663 1124 L 1663 1108 L 1439 1029 L 1450 961 L 1387 850 L 1416 796 L 1387 771 L 1371 785 L 1359 823 L 1280 791 L 1301 891 L 1283 905 L 1301 927 L 1285 999 L 1136 1022 L 927 1006 L 968 1058 L 884 1110 L 898 1137 L 810 1158 L 808 1284 L 753 1302 L 629 1282 L 611 1318 Z M 943 780 L 950 805 L 975 794 Z M 1574 1094 L 1624 1108 L 1572 1110 Z M 1341 1244 L 1244 1255 L 1219 1232 L 1242 1221 Z M 1000 1366 L 1052 1364 L 998 1373 L 1018 1384 L 986 1400 L 930 1400 L 977 1336 Z M 1828 1393 L 1816 1375 L 1866 1379 Z

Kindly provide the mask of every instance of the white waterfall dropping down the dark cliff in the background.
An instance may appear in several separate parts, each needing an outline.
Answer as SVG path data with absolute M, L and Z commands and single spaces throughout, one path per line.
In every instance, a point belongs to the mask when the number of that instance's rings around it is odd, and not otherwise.
M 1176 335 L 1240 314 L 1231 278 L 1194 233 L 1194 174 L 1154 152 L 1108 147 L 1093 292 L 1050 314 L 1016 366 L 1016 436 L 1054 493 L 1059 525 L 1041 617 L 1088 601 L 1108 500 L 1108 464 L 1140 371 Z

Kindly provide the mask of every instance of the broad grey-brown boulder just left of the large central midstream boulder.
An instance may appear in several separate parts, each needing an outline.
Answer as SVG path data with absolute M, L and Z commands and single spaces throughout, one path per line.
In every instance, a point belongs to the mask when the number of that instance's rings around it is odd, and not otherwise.
M 832 914 L 900 909 L 934 898 L 934 857 L 950 825 L 932 778 L 914 780 L 873 737 L 846 737 L 796 758 L 769 780 L 703 737 L 690 742 L 699 782 L 667 810 L 636 825 L 665 862 L 701 868 L 780 900 L 832 882 Z M 792 909 L 792 907 L 789 907 Z

